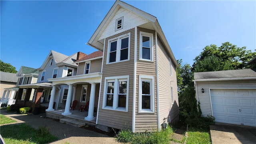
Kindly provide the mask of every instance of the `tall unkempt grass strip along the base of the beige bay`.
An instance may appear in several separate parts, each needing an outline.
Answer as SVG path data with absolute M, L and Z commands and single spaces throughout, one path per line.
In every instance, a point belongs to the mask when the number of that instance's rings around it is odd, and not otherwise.
M 170 144 L 172 134 L 173 130 L 170 126 L 160 132 L 132 133 L 130 130 L 121 130 L 116 140 L 130 144 Z

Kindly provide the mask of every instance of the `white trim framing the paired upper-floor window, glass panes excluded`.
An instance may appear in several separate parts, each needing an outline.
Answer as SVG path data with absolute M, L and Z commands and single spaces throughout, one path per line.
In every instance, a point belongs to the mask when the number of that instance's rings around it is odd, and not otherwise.
M 120 51 L 121 51 L 121 39 L 128 37 L 128 59 L 127 60 L 120 60 Z M 131 33 L 127 33 L 127 34 L 123 34 L 121 36 L 115 37 L 115 38 L 111 38 L 108 40 L 108 53 L 107 53 L 107 60 L 106 60 L 106 64 L 114 64 L 117 62 L 125 62 L 130 60 L 130 40 L 131 40 Z M 110 43 L 112 41 L 117 40 L 117 44 L 116 44 L 116 62 L 109 62 L 109 57 L 110 57 Z

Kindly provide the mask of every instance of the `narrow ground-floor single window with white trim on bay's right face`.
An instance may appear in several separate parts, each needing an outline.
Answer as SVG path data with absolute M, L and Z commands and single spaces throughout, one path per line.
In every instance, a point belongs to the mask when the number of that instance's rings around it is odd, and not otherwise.
M 139 75 L 139 112 L 154 112 L 154 76 Z

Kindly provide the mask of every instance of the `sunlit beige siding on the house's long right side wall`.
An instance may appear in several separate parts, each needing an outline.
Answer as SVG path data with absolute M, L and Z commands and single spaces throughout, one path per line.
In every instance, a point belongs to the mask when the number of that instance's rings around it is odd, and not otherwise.
M 166 49 L 159 39 L 157 52 L 160 120 L 170 116 L 168 122 L 173 122 L 175 118 L 178 118 L 179 114 L 176 68 L 173 65 L 174 62 L 172 62 L 172 75 L 170 75 L 170 56 L 168 56 Z M 173 92 L 173 102 L 171 87 Z M 160 124 L 162 124 L 162 121 L 160 121 Z

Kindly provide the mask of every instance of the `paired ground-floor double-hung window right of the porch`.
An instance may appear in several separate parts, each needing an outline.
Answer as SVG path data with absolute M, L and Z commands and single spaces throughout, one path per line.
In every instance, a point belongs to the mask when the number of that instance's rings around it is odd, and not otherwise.
M 129 76 L 106 77 L 103 109 L 128 112 Z

